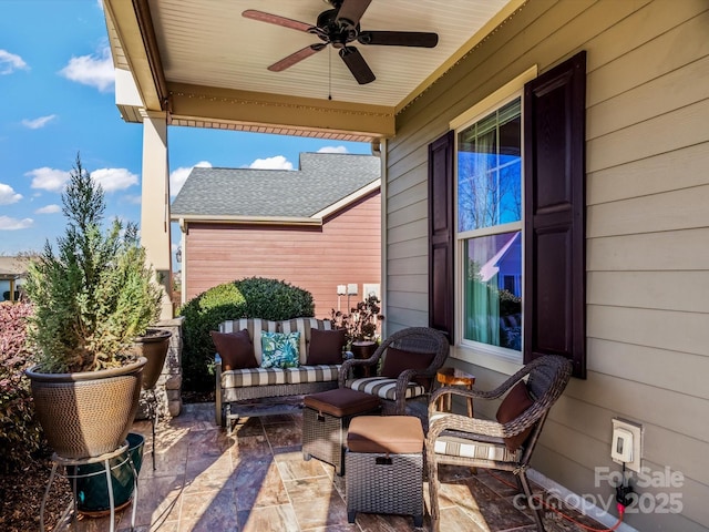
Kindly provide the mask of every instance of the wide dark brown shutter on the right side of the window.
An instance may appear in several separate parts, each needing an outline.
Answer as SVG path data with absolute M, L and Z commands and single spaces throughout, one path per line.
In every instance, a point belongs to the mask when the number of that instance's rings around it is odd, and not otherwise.
M 586 378 L 586 52 L 524 88 L 524 361 L 564 355 Z

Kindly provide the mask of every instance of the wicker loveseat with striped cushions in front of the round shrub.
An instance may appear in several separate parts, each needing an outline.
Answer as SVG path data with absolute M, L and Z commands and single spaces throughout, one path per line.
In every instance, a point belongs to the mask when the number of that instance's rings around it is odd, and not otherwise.
M 312 329 L 316 329 L 314 332 Z M 239 402 L 260 398 L 275 398 L 287 396 L 300 396 L 330 390 L 338 387 L 338 374 L 342 362 L 341 346 L 333 346 L 332 338 L 327 341 L 322 338 L 337 336 L 339 331 L 332 331 L 329 320 L 316 318 L 294 318 L 282 321 L 270 321 L 259 318 L 242 318 L 223 321 L 219 325 L 222 335 L 245 335 L 248 331 L 248 339 L 253 345 L 255 365 L 246 368 L 228 368 L 225 357 L 218 352 L 215 357 L 216 375 L 216 422 L 225 426 L 229 420 L 229 428 L 233 421 L 239 417 Z M 263 332 L 267 334 L 292 334 L 298 335 L 298 367 L 264 367 L 264 349 L 261 344 Z M 328 334 L 329 332 L 329 334 Z M 331 334 L 331 335 L 330 335 Z M 213 334 L 213 338 L 215 334 Z M 317 337 L 318 346 L 311 346 Z M 342 332 L 341 341 L 345 341 Z M 215 345 L 217 340 L 215 339 Z M 316 348 L 311 352 L 311 347 Z M 330 352 L 322 357 L 322 349 L 328 348 Z M 316 350 L 318 352 L 316 352 Z M 312 357 L 311 357 L 312 355 Z M 315 356 L 318 355 L 320 361 L 326 358 L 335 364 L 314 364 Z M 310 359 L 311 364 L 308 364 Z M 317 362 L 317 360 L 316 360 Z M 254 416 L 249 412 L 249 416 Z

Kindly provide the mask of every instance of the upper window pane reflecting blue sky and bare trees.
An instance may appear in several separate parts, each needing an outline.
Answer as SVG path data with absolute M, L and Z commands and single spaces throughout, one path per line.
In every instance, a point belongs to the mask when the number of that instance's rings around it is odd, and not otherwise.
M 458 231 L 522 219 L 521 100 L 458 135 Z

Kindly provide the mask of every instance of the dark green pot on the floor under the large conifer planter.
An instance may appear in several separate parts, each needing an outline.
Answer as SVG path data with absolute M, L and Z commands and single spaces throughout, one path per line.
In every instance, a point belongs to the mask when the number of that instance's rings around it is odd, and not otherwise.
M 129 449 L 115 458 L 109 460 L 111 468 L 111 485 L 113 487 L 113 505 L 115 510 L 126 505 L 133 497 L 134 475 L 141 472 L 143 463 L 143 446 L 145 438 L 141 434 L 129 432 Z M 130 460 L 129 460 L 130 458 Z M 89 463 L 68 468 L 70 483 L 76 482 L 76 509 L 89 516 L 106 515 L 111 512 L 111 499 L 106 488 L 106 473 L 103 462 Z

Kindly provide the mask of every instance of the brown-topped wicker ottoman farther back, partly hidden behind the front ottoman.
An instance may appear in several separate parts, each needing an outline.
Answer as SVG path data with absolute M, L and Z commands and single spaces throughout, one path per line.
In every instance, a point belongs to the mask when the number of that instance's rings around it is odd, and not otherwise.
M 363 391 L 337 388 L 311 393 L 302 399 L 302 458 L 335 466 L 335 472 L 345 472 L 345 442 L 347 428 L 353 416 L 379 411 L 379 398 Z

